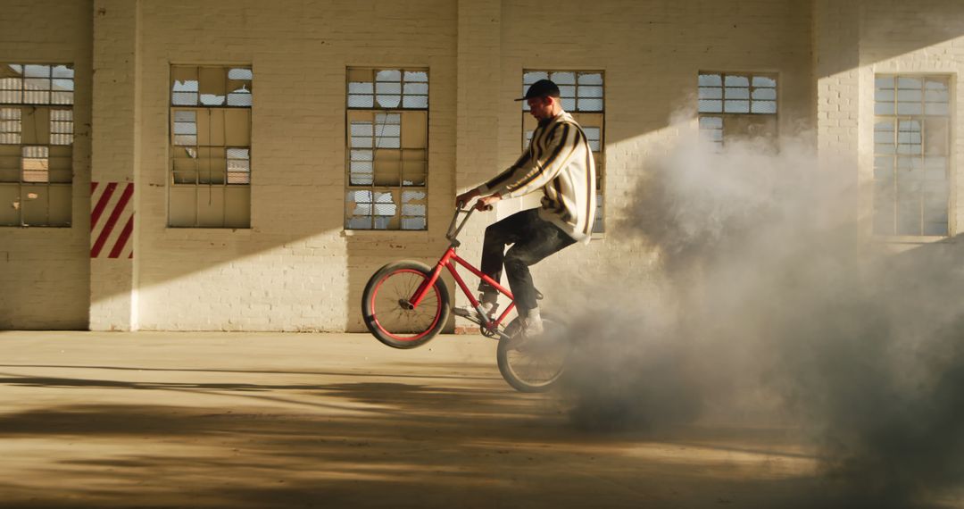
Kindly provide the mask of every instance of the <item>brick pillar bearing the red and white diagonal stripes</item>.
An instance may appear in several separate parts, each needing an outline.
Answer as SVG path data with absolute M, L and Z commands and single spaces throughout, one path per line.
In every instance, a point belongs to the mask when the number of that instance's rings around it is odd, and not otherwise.
M 94 0 L 92 331 L 137 329 L 138 0 Z

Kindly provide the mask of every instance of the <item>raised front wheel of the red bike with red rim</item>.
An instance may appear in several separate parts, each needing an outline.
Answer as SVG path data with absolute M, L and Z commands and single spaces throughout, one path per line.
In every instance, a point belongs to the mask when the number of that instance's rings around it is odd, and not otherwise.
M 417 261 L 396 261 L 376 272 L 365 284 L 362 316 L 365 327 L 379 341 L 392 348 L 415 348 L 442 331 L 448 320 L 448 290 L 436 280 L 417 308 L 409 298 L 432 269 Z

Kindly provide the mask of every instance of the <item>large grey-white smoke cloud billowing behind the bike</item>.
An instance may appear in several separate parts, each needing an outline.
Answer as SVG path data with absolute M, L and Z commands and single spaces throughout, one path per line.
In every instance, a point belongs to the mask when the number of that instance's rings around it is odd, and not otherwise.
M 582 428 L 793 422 L 837 505 L 924 507 L 964 480 L 962 249 L 862 234 L 853 168 L 812 143 L 646 161 L 608 234 L 658 270 L 566 294 L 583 355 L 560 391 Z M 829 503 L 829 502 L 828 502 Z

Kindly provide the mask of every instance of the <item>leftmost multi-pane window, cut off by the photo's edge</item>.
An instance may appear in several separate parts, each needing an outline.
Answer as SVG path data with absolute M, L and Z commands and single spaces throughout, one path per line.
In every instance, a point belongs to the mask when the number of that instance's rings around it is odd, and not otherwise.
M 73 67 L 0 64 L 0 226 L 70 226 Z

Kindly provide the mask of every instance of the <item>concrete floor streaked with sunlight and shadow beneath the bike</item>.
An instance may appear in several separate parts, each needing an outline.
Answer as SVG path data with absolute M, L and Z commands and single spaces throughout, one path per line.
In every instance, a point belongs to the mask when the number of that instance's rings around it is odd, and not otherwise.
M 570 426 L 495 341 L 0 333 L 3 507 L 787 507 L 819 491 L 781 430 Z

